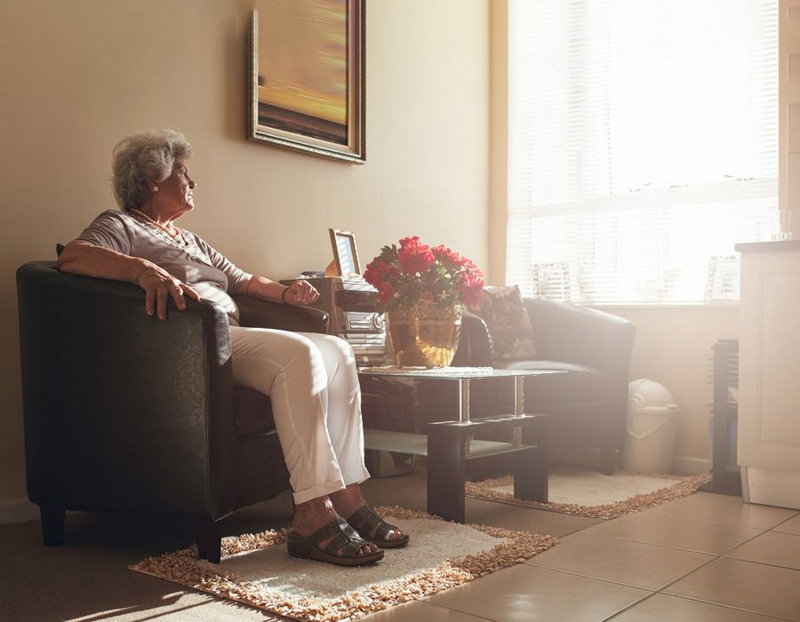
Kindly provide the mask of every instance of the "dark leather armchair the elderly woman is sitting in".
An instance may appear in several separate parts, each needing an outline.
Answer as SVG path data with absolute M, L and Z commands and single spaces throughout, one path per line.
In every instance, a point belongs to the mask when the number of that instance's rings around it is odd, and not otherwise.
M 144 292 L 61 273 L 17 271 L 28 497 L 44 543 L 66 510 L 183 514 L 201 557 L 220 560 L 220 525 L 287 490 L 269 398 L 233 384 L 228 315 L 187 300 L 158 321 Z M 235 297 L 243 326 L 325 332 L 328 316 Z

